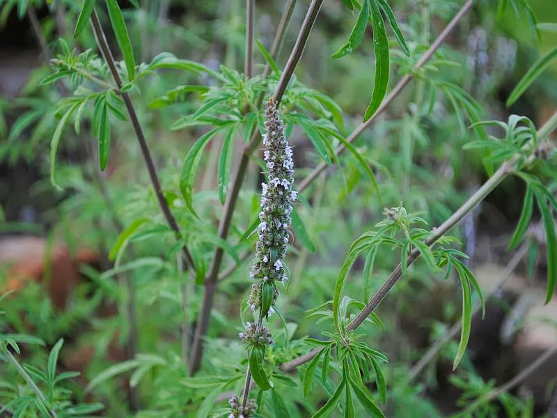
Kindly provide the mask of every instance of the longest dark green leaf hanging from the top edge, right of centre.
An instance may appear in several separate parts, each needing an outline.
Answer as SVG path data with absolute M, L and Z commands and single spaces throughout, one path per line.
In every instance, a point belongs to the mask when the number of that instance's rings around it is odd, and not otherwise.
M 377 0 L 371 1 L 371 22 L 373 27 L 373 47 L 375 50 L 375 80 L 370 105 L 363 116 L 367 121 L 379 109 L 389 84 L 389 39 Z

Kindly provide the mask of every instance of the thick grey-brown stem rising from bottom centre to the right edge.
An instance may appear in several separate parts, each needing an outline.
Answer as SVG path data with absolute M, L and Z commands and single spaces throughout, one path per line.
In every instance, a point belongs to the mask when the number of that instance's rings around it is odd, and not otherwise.
M 547 121 L 538 130 L 538 137 L 540 138 L 540 140 L 544 139 L 544 137 L 547 137 L 556 127 L 557 127 L 557 112 L 555 112 L 554 116 L 549 118 L 549 121 Z M 530 158 L 528 158 L 528 160 L 526 161 L 533 162 L 533 160 L 531 160 Z M 476 191 L 476 193 L 474 193 L 462 206 L 460 206 L 460 208 L 458 208 L 457 211 L 453 213 L 453 215 L 451 215 L 443 224 L 441 224 L 441 226 L 432 229 L 433 235 L 425 242 L 426 245 L 427 246 L 433 245 L 446 232 L 448 232 L 451 228 L 453 228 L 453 226 L 458 224 L 458 222 L 460 222 L 469 212 L 471 212 L 474 208 L 476 208 L 476 206 L 481 201 L 483 201 L 487 197 L 487 195 L 491 193 L 492 190 L 495 187 L 497 187 L 499 183 L 501 183 L 501 181 L 503 181 L 504 178 L 506 178 L 510 173 L 512 173 L 512 171 L 515 169 L 516 162 L 517 162 L 517 156 L 511 157 L 510 160 L 503 162 L 503 164 L 501 164 L 501 167 L 499 167 L 499 169 L 493 174 L 493 176 L 491 176 L 483 184 L 483 186 L 480 187 L 478 191 Z M 414 249 L 414 251 L 412 251 L 409 254 L 409 256 L 405 261 L 407 267 L 412 263 L 414 263 L 414 261 L 416 261 L 416 259 L 419 256 L 420 256 L 420 251 L 418 251 L 418 249 Z M 400 277 L 402 277 L 402 265 L 398 263 L 395 270 L 391 272 L 391 274 L 386 279 L 384 284 L 382 284 L 379 290 L 375 292 L 375 295 L 371 297 L 371 299 L 366 304 L 366 306 L 363 307 L 363 309 L 359 312 L 356 318 L 354 318 L 354 320 L 352 320 L 352 322 L 347 325 L 346 327 L 347 332 L 355 330 L 363 323 L 364 320 L 366 320 L 366 318 L 368 318 L 368 316 L 372 313 L 372 311 L 374 311 L 375 308 L 377 308 L 377 305 L 379 305 L 379 303 L 382 302 L 382 300 L 384 300 L 386 295 L 389 294 L 389 291 L 391 291 L 391 288 L 393 288 L 393 286 L 400 279 Z M 296 369 L 298 366 L 301 366 L 301 364 L 304 364 L 310 361 L 311 359 L 313 359 L 313 357 L 315 357 L 315 355 L 319 353 L 320 350 L 322 350 L 322 347 L 315 348 L 311 350 L 309 353 L 306 353 L 305 355 L 290 360 L 290 362 L 287 362 L 281 366 L 281 370 L 290 371 Z

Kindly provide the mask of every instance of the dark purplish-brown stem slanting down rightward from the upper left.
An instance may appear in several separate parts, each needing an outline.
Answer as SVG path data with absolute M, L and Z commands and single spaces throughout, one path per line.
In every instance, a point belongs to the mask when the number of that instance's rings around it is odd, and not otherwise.
M 112 52 L 107 42 L 107 38 L 106 36 L 104 36 L 104 31 L 102 30 L 102 26 L 100 24 L 99 17 L 97 15 L 96 10 L 93 10 L 93 13 L 91 14 L 91 24 L 93 26 L 93 32 L 95 33 L 95 39 L 97 40 L 97 45 L 101 50 L 102 56 L 104 57 L 104 61 L 106 61 L 107 65 L 109 66 L 109 70 L 112 74 L 114 82 L 116 82 L 118 88 L 122 88 L 123 85 L 122 79 L 118 74 L 118 69 L 116 68 L 116 61 L 114 61 L 114 57 L 112 56 Z M 127 114 L 128 116 L 130 116 L 130 121 L 132 122 L 132 126 L 134 127 L 137 140 L 139 141 L 141 153 L 143 153 L 143 159 L 146 162 L 151 184 L 153 189 L 155 190 L 155 195 L 157 196 L 157 201 L 159 202 L 159 206 L 163 212 L 164 217 L 166 218 L 166 222 L 168 222 L 168 226 L 170 226 L 171 229 L 174 231 L 176 238 L 180 240 L 181 239 L 180 228 L 178 227 L 178 223 L 176 222 L 174 215 L 172 214 L 170 208 L 168 207 L 168 203 L 166 203 L 166 199 L 164 199 L 164 194 L 162 192 L 162 187 L 159 181 L 159 177 L 157 175 L 157 170 L 155 169 L 155 164 L 152 161 L 150 150 L 147 145 L 147 141 L 145 139 L 145 134 L 143 134 L 143 128 L 141 127 L 141 124 L 139 123 L 139 119 L 137 118 L 137 114 L 134 109 L 134 105 L 132 104 L 130 95 L 124 92 L 120 92 L 120 95 L 122 95 L 125 107 L 127 109 Z M 185 245 L 182 246 L 182 252 L 184 254 L 187 266 L 191 268 L 191 270 L 195 270 L 194 259 L 191 257 L 191 254 L 189 253 L 189 250 Z

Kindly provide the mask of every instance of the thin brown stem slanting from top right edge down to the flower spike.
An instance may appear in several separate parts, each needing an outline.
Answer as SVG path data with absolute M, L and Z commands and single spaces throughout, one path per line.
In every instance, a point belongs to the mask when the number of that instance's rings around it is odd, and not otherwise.
M 462 8 L 460 8 L 460 10 L 455 15 L 455 17 L 453 17 L 453 20 L 451 20 L 447 24 L 447 26 L 445 26 L 445 29 L 443 29 L 443 31 L 439 33 L 439 36 L 437 36 L 437 39 L 434 40 L 434 42 L 430 46 L 430 49 L 427 49 L 427 51 L 425 52 L 425 54 L 423 54 L 421 59 L 419 59 L 416 65 L 414 65 L 414 68 L 411 70 L 411 72 L 405 75 L 404 77 L 402 77 L 402 79 L 400 79 L 400 82 L 398 82 L 396 86 L 393 88 L 393 90 L 391 91 L 391 93 L 389 93 L 389 95 L 386 96 L 386 98 L 383 100 L 383 102 L 381 103 L 379 109 L 377 109 L 375 114 L 373 114 L 373 116 L 369 118 L 368 121 L 361 123 L 358 127 L 356 127 L 356 129 L 352 132 L 352 134 L 350 134 L 350 136 L 347 137 L 346 139 L 347 142 L 349 143 L 354 142 L 356 138 L 360 136 L 361 132 L 363 132 L 363 130 L 366 130 L 366 128 L 368 128 L 373 123 L 373 121 L 375 121 L 377 116 L 379 116 L 379 114 L 382 114 L 382 112 L 389 106 L 389 104 L 391 104 L 391 102 L 400 94 L 402 89 L 404 89 L 407 86 L 407 84 L 410 82 L 410 80 L 414 78 L 413 73 L 416 72 L 416 70 L 418 70 L 419 68 L 423 67 L 423 65 L 432 58 L 433 54 L 446 40 L 448 34 L 451 31 L 453 31 L 453 29 L 455 29 L 455 26 L 458 24 L 458 22 L 462 20 L 462 17 L 464 17 L 464 15 L 466 15 L 466 12 L 468 12 L 468 10 L 472 7 L 472 3 L 473 0 L 467 0 L 466 3 L 464 3 L 464 5 L 462 6 Z M 345 150 L 345 148 L 346 148 L 345 145 L 338 146 L 338 148 L 336 148 L 335 150 L 335 155 L 340 155 L 340 153 L 342 153 Z M 308 185 L 310 185 L 310 183 L 313 182 L 313 180 L 315 180 L 315 178 L 319 175 L 319 173 L 321 173 L 321 171 L 323 171 L 326 168 L 327 168 L 327 164 L 325 164 L 324 162 L 318 164 L 317 167 L 315 167 L 315 169 L 313 169 L 311 173 L 309 173 L 308 176 L 306 176 L 306 178 L 304 178 L 304 180 L 302 180 L 301 183 L 299 183 L 298 191 L 302 192 L 304 189 L 306 189 L 306 187 L 308 187 Z

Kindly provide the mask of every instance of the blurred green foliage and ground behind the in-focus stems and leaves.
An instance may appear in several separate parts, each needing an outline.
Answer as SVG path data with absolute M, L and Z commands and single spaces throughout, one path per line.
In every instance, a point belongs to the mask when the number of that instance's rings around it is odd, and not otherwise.
M 194 324 L 201 286 L 186 281 L 177 267 L 178 247 L 150 189 L 131 125 L 111 117 L 111 156 L 106 171 L 100 173 L 91 134 L 93 109 L 86 107 L 81 133 L 66 127 L 58 148 L 56 181 L 63 190 L 56 189 L 50 180 L 50 141 L 61 116 L 53 109 L 74 86 L 70 80 L 48 86 L 40 86 L 40 82 L 52 72 L 47 65 L 49 59 L 63 52 L 58 36 L 77 52 L 88 48 L 96 52 L 88 27 L 77 40 L 71 35 L 80 2 L 11 3 L 0 1 L 0 251 L 16 256 L 6 256 L 8 261 L 1 265 L 0 293 L 10 289 L 17 292 L 0 302 L 0 332 L 32 334 L 42 339 L 47 348 L 21 344 L 24 362 L 39 369 L 47 364 L 56 341 L 64 339 L 57 373 L 81 374 L 56 389 L 53 396 L 59 402 L 70 399 L 72 404 L 93 406 L 100 402 L 102 409 L 96 408 L 100 412 L 91 407 L 91 413 L 110 417 L 194 416 L 200 408 L 208 412 L 210 403 L 203 401 L 214 399 L 218 391 L 214 391 L 214 385 L 196 386 L 188 380 L 181 359 L 182 320 L 187 318 L 190 325 Z M 389 3 L 411 50 L 408 58 L 391 39 L 392 87 L 462 4 L 453 0 Z M 454 98 L 440 84 L 432 83 L 433 79 L 462 87 L 477 102 L 481 120 L 506 121 L 510 114 L 520 114 L 541 126 L 556 110 L 557 61 L 512 107 L 505 107 L 510 92 L 532 63 L 557 45 L 557 32 L 540 30 L 538 35 L 526 16 L 517 15 L 510 6 L 498 17 L 495 3 L 476 1 L 420 77 L 357 139 L 355 146 L 373 167 L 382 198 L 350 154 L 340 157 L 302 197 L 297 210 L 308 238 L 306 242 L 295 238 L 292 244 L 288 258 L 292 280 L 281 292 L 279 303 L 292 341 L 288 346 L 286 334 L 279 331 L 281 321 L 274 318 L 277 346 L 271 353 L 272 362 L 305 353 L 304 336 L 317 337 L 321 331 L 330 330 L 331 323 L 319 323 L 318 317 L 308 316 L 306 311 L 331 299 L 348 247 L 383 218 L 384 207 L 397 207 L 402 201 L 410 212 L 423 211 L 427 222 L 437 225 L 487 178 L 481 155 L 462 150 L 464 144 L 477 139 L 476 132 L 468 128 L 473 123 L 473 115 L 467 110 L 471 102 L 453 103 Z M 557 22 L 554 1 L 529 3 L 539 22 Z M 217 72 L 220 65 L 225 65 L 242 73 L 244 1 L 139 0 L 139 8 L 127 1 L 120 1 L 120 6 L 136 63 L 150 63 L 166 51 Z M 307 6 L 308 1 L 297 1 L 284 47 L 276 59 L 279 68 L 288 59 Z M 256 39 L 267 49 L 282 8 L 283 2 L 256 1 Z M 104 9 L 100 10 L 103 24 L 108 25 Z M 33 15 L 42 40 L 33 32 Z M 352 132 L 361 122 L 375 68 L 370 31 L 356 52 L 340 60 L 331 59 L 345 42 L 356 15 L 341 1 L 324 2 L 295 76 L 301 86 L 320 91 L 338 103 L 343 123 L 336 127 L 341 134 Z M 113 38 L 109 42 L 116 45 Z M 255 57 L 258 73 L 265 60 L 258 49 Z M 206 129 L 171 127 L 202 103 L 198 92 L 176 92 L 177 86 L 211 87 L 218 83 L 207 75 L 163 69 L 136 82 L 132 93 L 166 200 L 196 259 L 205 268 L 215 245 L 223 245 L 216 238 L 222 208 L 217 193 L 220 137 L 207 145 L 199 164 L 194 196 L 194 207 L 201 217 L 198 220 L 180 195 L 179 176 L 185 155 Z M 295 103 L 295 93 L 290 94 L 287 99 Z M 234 141 L 232 171 L 242 150 L 240 132 Z M 293 127 L 290 142 L 295 147 L 297 179 L 304 178 L 321 161 L 320 155 L 300 125 Z M 236 254 L 253 249 L 255 237 L 246 238 L 245 233 L 259 209 L 259 171 L 253 162 L 240 192 L 222 270 L 235 262 Z M 506 246 L 519 218 L 523 194 L 519 180 L 505 180 L 473 216 L 452 231 L 464 242 L 470 266 L 486 288 L 492 286 L 512 255 Z M 539 219 L 537 212 L 534 217 Z M 108 258 L 110 249 L 123 228 L 143 218 L 148 221 L 134 231 L 115 268 Z M 389 364 L 384 366 L 390 399 L 388 416 L 437 417 L 455 412 L 515 376 L 540 350 L 556 343 L 551 325 L 551 320 L 557 320 L 554 302 L 545 311 L 531 311 L 532 304 L 528 309 L 523 307 L 524 293 L 533 297 L 535 304 L 544 302 L 543 295 L 536 293 L 545 286 L 546 266 L 540 256 L 544 243 L 534 238 L 528 238 L 528 253 L 517 268 L 512 286 L 489 302 L 485 320 L 474 318 L 469 350 L 455 372 L 450 371 L 457 349 L 453 341 L 441 349 L 437 361 L 421 376 L 414 381 L 408 379 L 412 364 L 460 318 L 460 284 L 456 279 L 444 280 L 443 274 L 431 274 L 420 262 L 395 286 L 377 312 L 383 327 L 365 327 L 366 341 L 389 357 Z M 357 261 L 345 293 L 367 300 L 399 257 L 388 249 L 379 251 L 370 279 L 363 277 L 363 260 Z M 240 266 L 219 284 L 202 376 L 240 373 L 245 355 L 236 338 L 241 330 L 239 301 L 250 286 L 250 260 L 251 256 L 242 259 Z M 5 261 L 1 254 L 0 261 Z M 14 263 L 22 266 L 24 274 L 14 276 Z M 39 280 L 26 280 L 25 275 Z M 136 353 L 140 354 L 134 359 L 125 349 L 125 341 L 133 332 L 127 321 L 127 301 L 132 294 L 126 278 L 132 281 L 136 299 Z M 184 314 L 185 282 L 188 303 Z M 524 303 L 519 304 L 520 300 Z M 510 317 L 515 323 L 508 325 Z M 545 324 L 542 334 L 547 336 L 542 341 L 533 331 L 540 323 Z M 512 332 L 503 338 L 504 324 L 511 326 Z M 549 336 L 551 333 L 553 336 Z M 508 398 L 481 405 L 477 416 L 512 416 L 506 408 L 517 412 L 515 416 L 520 416 L 519 412 L 524 416 L 555 416 L 556 371 L 557 359 L 553 358 Z M 292 378 L 299 382 L 297 373 Z M 240 380 L 218 388 L 226 392 L 241 385 Z M 327 397 L 327 392 L 330 394 L 327 385 L 316 385 L 312 401 L 308 401 L 299 388 L 277 385 L 293 417 L 315 412 L 315 405 Z M 13 367 L 0 363 L 0 403 L 6 404 L 15 394 L 29 394 L 29 388 L 24 387 Z M 282 416 L 276 412 L 279 401 L 274 395 L 263 402 L 269 416 Z M 214 401 L 214 408 L 226 408 L 226 398 Z M 40 413 L 29 408 L 22 416 Z

